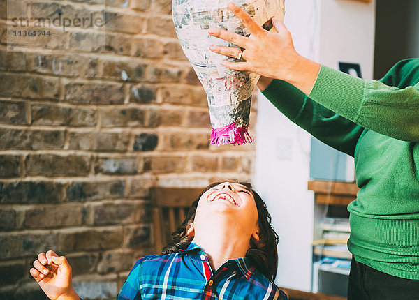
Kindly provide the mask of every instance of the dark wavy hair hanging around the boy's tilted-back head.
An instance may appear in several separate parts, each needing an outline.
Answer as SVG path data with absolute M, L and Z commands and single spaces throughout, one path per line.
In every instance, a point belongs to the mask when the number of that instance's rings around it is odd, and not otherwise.
M 192 241 L 191 237 L 186 236 L 186 227 L 189 223 L 192 223 L 195 218 L 196 207 L 198 207 L 198 202 L 200 197 L 210 188 L 218 186 L 223 182 L 212 183 L 200 193 L 198 198 L 192 202 L 191 207 L 186 215 L 185 220 L 182 225 L 180 225 L 175 232 L 172 233 L 172 242 L 167 246 L 163 247 L 161 250 L 161 255 L 166 255 L 169 253 L 177 253 L 179 249 L 188 248 L 189 244 Z M 253 264 L 260 273 L 263 273 L 268 279 L 274 280 L 277 276 L 278 268 L 278 253 L 277 253 L 277 244 L 278 244 L 278 234 L 274 231 L 271 224 L 271 216 L 267 211 L 265 202 L 262 198 L 253 190 L 251 183 L 242 183 L 238 182 L 242 186 L 246 186 L 256 202 L 256 207 L 258 209 L 258 225 L 260 229 L 260 244 L 262 246 L 257 246 L 256 243 L 253 243 L 251 240 L 251 248 L 247 250 L 246 256 L 250 258 L 251 263 Z

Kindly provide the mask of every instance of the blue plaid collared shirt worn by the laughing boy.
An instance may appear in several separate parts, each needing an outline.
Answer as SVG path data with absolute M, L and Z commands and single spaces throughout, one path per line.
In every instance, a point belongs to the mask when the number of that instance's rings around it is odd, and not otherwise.
M 287 299 L 248 257 L 228 260 L 213 273 L 195 243 L 168 255 L 147 255 L 135 262 L 117 300 L 138 299 Z

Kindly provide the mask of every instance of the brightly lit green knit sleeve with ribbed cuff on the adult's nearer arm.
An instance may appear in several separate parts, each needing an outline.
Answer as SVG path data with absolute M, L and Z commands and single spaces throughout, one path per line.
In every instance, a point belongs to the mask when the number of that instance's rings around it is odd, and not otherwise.
M 399 140 L 418 142 L 419 76 L 408 76 L 411 85 L 403 88 L 394 82 L 395 78 L 406 77 L 406 72 L 409 73 L 406 68 L 392 68 L 386 75 L 388 82 L 384 79 L 384 83 L 362 80 L 321 66 L 309 97 L 369 130 Z

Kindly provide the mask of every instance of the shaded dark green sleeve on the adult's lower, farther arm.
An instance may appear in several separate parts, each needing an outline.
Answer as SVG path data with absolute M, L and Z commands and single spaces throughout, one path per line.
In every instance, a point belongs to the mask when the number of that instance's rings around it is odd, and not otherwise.
M 263 95 L 288 119 L 307 130 L 321 142 L 354 155 L 364 128 L 311 100 L 288 82 L 272 80 Z

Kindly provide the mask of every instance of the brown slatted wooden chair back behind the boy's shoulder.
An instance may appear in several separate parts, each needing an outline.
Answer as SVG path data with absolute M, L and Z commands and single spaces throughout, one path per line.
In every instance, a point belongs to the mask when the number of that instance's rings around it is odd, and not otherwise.
M 172 241 L 172 232 L 182 224 L 191 203 L 202 188 L 152 188 L 152 211 L 155 252 Z

